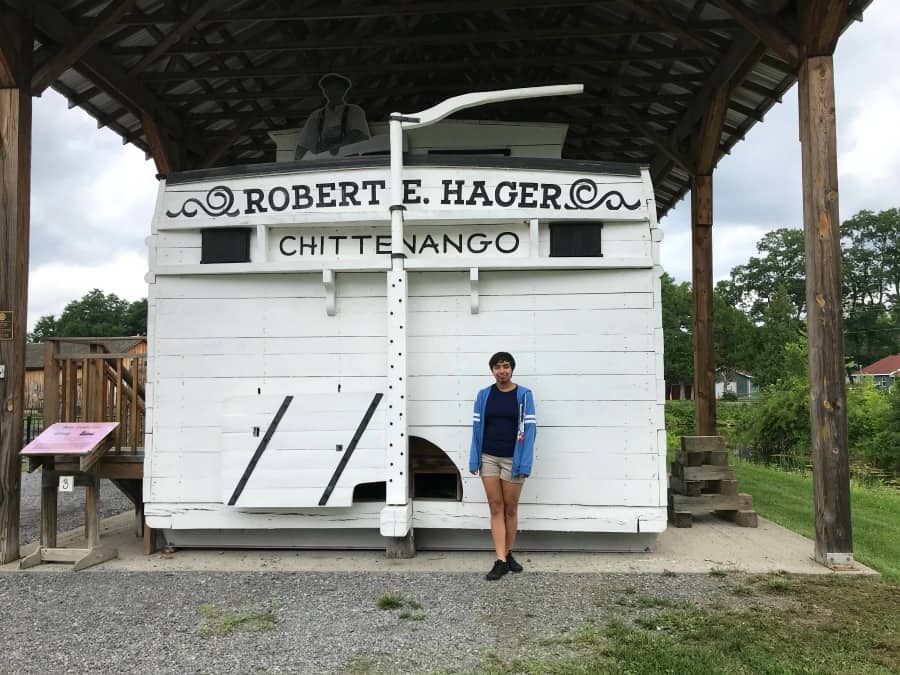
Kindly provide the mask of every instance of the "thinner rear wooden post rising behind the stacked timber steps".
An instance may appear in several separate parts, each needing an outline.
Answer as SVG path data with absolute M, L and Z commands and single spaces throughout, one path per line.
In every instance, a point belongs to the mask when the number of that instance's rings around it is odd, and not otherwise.
M 713 354 L 712 175 L 691 184 L 691 260 L 694 294 L 694 428 L 698 436 L 716 434 L 716 381 Z

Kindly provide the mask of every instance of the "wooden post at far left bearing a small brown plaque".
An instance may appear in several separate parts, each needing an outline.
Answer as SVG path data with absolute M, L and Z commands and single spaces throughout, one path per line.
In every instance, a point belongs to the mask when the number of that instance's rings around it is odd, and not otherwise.
M 0 31 L 0 564 L 19 557 L 31 193 L 30 3 Z M 14 24 L 14 25 L 13 25 Z

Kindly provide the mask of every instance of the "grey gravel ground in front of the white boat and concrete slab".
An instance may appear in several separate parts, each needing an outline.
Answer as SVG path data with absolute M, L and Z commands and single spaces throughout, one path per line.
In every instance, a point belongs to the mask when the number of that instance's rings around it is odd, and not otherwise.
M 523 560 L 527 564 L 527 557 Z M 634 619 L 659 599 L 734 606 L 738 575 L 121 573 L 0 574 L 0 672 L 473 672 L 488 654 L 567 653 L 585 621 Z M 399 593 L 414 618 L 383 610 Z M 224 630 L 204 606 L 274 610 Z M 209 609 L 207 607 L 207 612 Z

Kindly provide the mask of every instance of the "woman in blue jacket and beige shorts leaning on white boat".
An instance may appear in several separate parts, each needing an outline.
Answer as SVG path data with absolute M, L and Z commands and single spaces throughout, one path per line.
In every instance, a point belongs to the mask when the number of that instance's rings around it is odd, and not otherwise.
M 497 560 L 486 578 L 494 581 L 507 572 L 522 571 L 512 550 L 519 528 L 519 495 L 534 460 L 537 422 L 531 391 L 512 381 L 516 369 L 512 354 L 497 352 L 489 364 L 495 383 L 475 398 L 469 471 L 472 475 L 481 471 L 491 509 Z

